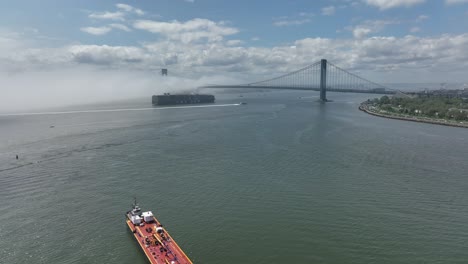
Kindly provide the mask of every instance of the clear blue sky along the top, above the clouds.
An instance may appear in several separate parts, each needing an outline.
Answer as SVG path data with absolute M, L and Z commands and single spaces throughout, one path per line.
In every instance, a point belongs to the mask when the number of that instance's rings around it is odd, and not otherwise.
M 349 38 L 350 27 L 366 20 L 392 21 L 379 30 L 378 35 L 432 36 L 444 33 L 466 33 L 468 26 L 468 5 L 463 1 L 394 1 L 401 6 L 381 9 L 372 1 L 215 1 L 183 0 L 168 1 L 4 1 L 0 9 L 3 27 L 22 31 L 37 29 L 44 35 L 77 41 L 83 44 L 131 45 L 151 40 L 155 36 L 142 31 L 129 34 L 113 31 L 100 37 L 80 31 L 81 27 L 100 27 L 111 19 L 92 19 L 92 13 L 120 12 L 118 3 L 131 5 L 145 14 L 127 15 L 124 24 L 133 19 L 156 21 L 187 21 L 205 18 L 212 21 L 226 21 L 238 28 L 239 33 L 230 38 L 240 39 L 249 45 L 275 46 L 306 37 Z M 375 1 L 379 2 L 379 1 Z M 385 1 L 381 1 L 385 2 Z M 391 2 L 391 1 L 388 1 Z M 404 5 L 405 2 L 413 5 Z M 418 3 L 420 2 L 420 3 Z M 456 1 L 455 1 L 456 2 Z M 464 1 L 467 2 L 467 1 Z M 323 9 L 331 10 L 328 15 Z M 426 19 L 418 19 L 426 16 Z M 122 23 L 121 20 L 113 22 Z M 281 23 L 284 22 L 284 23 Z M 291 23 L 291 24 L 288 24 Z M 259 38 L 252 41 L 252 38 Z

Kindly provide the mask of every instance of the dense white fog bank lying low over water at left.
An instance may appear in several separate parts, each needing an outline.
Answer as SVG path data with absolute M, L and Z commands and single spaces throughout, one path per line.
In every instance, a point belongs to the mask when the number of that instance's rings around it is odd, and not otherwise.
M 156 93 L 196 92 L 198 86 L 209 83 L 235 82 L 224 76 L 184 78 L 161 76 L 160 72 L 91 66 L 0 73 L 0 112 L 149 98 Z

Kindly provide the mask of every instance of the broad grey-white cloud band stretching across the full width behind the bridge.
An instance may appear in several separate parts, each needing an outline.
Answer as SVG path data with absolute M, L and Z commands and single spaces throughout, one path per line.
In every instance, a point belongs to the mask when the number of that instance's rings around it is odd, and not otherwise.
M 47 101 L 50 104 L 115 99 L 117 95 L 112 93 L 120 92 L 144 95 L 160 82 L 154 76 L 162 67 L 169 68 L 175 86 L 184 87 L 262 80 L 321 58 L 376 82 L 466 81 L 468 69 L 468 33 L 305 38 L 273 47 L 237 46 L 240 43 L 236 40 L 184 43 L 163 38 L 132 46 L 75 44 L 47 48 L 26 36 L 36 37 L 0 31 L 0 87 L 17 87 L 7 95 L 2 91 L 0 111 L 15 105 L 44 106 L 46 102 L 34 105 L 34 98 L 41 94 L 56 99 Z M 223 77 L 215 80 L 218 77 L 213 76 Z M 29 96 L 24 98 L 26 93 Z

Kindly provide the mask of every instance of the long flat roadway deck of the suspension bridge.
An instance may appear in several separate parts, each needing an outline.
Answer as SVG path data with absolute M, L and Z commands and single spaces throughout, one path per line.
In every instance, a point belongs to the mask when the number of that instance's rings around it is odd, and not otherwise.
M 303 91 L 317 91 L 320 92 L 320 87 L 307 87 L 307 86 L 295 86 L 295 87 L 285 87 L 285 86 L 261 86 L 261 85 L 205 85 L 198 88 L 209 88 L 209 89 L 273 89 L 273 90 L 303 90 Z M 349 89 L 349 88 L 333 88 L 327 87 L 327 92 L 336 92 L 336 93 L 371 93 L 371 94 L 396 94 L 396 91 L 393 90 L 383 90 L 383 89 Z

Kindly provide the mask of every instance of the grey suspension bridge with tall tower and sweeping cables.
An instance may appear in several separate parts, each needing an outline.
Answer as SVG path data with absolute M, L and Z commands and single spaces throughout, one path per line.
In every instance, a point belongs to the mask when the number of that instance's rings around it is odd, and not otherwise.
M 206 85 L 199 88 L 246 88 L 246 89 L 281 89 L 310 90 L 320 92 L 320 100 L 327 101 L 327 92 L 395 94 L 378 83 L 366 80 L 344 70 L 325 59 L 307 67 L 275 78 L 259 82 L 236 85 Z

